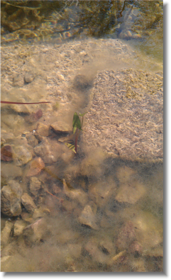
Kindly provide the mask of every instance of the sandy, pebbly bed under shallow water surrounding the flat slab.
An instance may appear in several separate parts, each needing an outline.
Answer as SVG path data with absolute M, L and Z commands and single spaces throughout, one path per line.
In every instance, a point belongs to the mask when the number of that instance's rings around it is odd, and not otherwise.
M 162 271 L 162 160 L 114 157 L 82 138 L 74 155 L 58 141 L 66 133 L 50 128 L 63 121 L 72 130 L 73 113 L 89 108 L 97 72 L 162 72 L 162 46 L 147 55 L 148 43 L 141 52 L 142 42 L 111 38 L 1 49 L 1 100 L 52 102 L 1 104 L 1 138 L 13 151 L 13 162 L 0 162 L 1 189 L 14 180 L 35 203 L 22 202 L 18 215 L 1 211 L 1 271 Z M 40 108 L 43 116 L 31 118 Z M 45 168 L 28 176 L 35 157 Z

